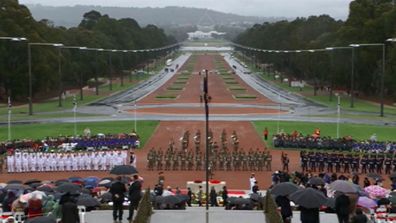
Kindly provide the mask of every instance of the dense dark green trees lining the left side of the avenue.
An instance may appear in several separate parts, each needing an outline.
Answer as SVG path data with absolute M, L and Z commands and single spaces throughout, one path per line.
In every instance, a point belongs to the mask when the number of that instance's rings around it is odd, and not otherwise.
M 175 38 L 154 25 L 140 27 L 132 18 L 114 19 L 97 11 L 85 13 L 77 27 L 56 27 L 46 19 L 34 20 L 29 9 L 18 0 L 0 2 L 0 37 L 5 36 L 27 39 L 0 39 L 0 100 L 11 96 L 20 102 L 26 102 L 29 95 L 28 42 L 118 50 L 153 49 L 176 43 Z M 33 99 L 57 92 L 60 87 L 58 49 L 43 45 L 30 48 Z M 167 50 L 111 52 L 61 48 L 62 85 L 65 89 L 78 88 L 96 75 L 122 74 L 123 70 L 139 68 L 167 53 Z

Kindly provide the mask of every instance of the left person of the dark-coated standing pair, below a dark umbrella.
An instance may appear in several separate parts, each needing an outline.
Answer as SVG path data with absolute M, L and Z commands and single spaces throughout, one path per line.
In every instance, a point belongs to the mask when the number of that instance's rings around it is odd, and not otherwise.
M 111 184 L 110 193 L 112 195 L 113 201 L 113 220 L 117 222 L 117 217 L 119 221 L 122 221 L 123 214 L 123 203 L 125 198 L 126 187 L 125 184 L 121 182 L 122 178 L 118 176 L 117 181 Z M 118 212 L 118 213 L 117 213 Z M 118 215 L 117 215 L 118 214 Z

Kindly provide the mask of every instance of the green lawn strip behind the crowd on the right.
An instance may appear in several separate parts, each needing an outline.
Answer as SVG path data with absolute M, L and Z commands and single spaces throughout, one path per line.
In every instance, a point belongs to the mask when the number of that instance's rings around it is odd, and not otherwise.
M 252 122 L 260 136 L 263 136 L 263 130 L 268 128 L 269 135 L 277 132 L 277 121 L 255 121 Z M 279 129 L 286 133 L 291 133 L 294 130 L 301 132 L 304 135 L 312 134 L 315 128 L 320 128 L 322 136 L 336 137 L 336 123 L 311 123 L 311 122 L 279 122 Z M 352 136 L 354 139 L 368 139 L 373 133 L 377 134 L 377 139 L 380 141 L 396 140 L 395 126 L 375 126 L 364 124 L 345 124 L 340 123 L 340 136 Z M 268 140 L 268 145 L 273 147 L 272 140 Z

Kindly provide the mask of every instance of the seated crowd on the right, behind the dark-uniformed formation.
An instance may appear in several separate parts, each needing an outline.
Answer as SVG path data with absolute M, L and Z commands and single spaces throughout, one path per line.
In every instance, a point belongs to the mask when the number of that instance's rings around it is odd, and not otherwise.
M 278 133 L 273 136 L 274 146 L 277 148 L 297 149 L 323 149 L 340 151 L 363 151 L 363 152 L 394 152 L 396 142 L 379 142 L 373 135 L 368 140 L 355 140 L 352 137 L 332 138 L 317 134 L 302 135 L 298 131 L 291 134 Z

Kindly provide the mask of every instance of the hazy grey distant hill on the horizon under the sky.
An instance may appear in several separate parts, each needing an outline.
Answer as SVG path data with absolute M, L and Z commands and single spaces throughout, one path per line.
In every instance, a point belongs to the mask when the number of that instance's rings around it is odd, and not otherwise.
M 101 7 L 101 6 L 43 6 L 26 5 L 36 20 L 48 19 L 55 26 L 77 26 L 83 14 L 96 10 L 108 14 L 113 18 L 134 18 L 139 24 L 154 24 L 160 27 L 167 26 L 196 26 L 196 25 L 221 25 L 221 26 L 251 26 L 256 23 L 273 22 L 280 18 L 264 18 L 240 16 L 231 13 L 222 13 L 208 9 L 165 7 L 165 8 L 126 8 L 126 7 Z

